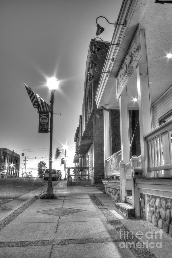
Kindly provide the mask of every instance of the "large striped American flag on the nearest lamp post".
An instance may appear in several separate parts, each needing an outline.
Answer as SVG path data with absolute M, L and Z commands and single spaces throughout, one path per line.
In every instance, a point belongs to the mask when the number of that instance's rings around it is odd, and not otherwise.
M 45 102 L 38 94 L 32 91 L 32 89 L 29 86 L 27 86 L 25 83 L 24 83 L 24 86 L 26 87 L 26 91 L 30 97 L 30 100 L 34 108 L 37 108 L 38 111 L 46 111 L 46 112 L 51 111 L 51 106 L 47 104 L 47 102 Z

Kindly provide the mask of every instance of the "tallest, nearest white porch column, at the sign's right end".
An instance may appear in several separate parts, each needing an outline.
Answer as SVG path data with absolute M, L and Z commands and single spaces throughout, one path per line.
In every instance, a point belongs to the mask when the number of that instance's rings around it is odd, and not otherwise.
M 139 123 L 140 123 L 140 145 L 142 158 L 142 177 L 146 177 L 149 165 L 148 144 L 144 135 L 152 131 L 152 110 L 149 93 L 148 66 L 146 54 L 145 31 L 140 30 L 141 53 L 142 57 L 136 68 L 137 72 L 137 90 L 139 106 Z M 147 176 L 151 176 L 151 173 Z M 154 176 L 154 172 L 153 172 Z

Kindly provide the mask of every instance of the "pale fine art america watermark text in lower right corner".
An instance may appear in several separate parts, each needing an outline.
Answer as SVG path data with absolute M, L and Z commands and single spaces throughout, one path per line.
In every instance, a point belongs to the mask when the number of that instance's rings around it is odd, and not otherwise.
M 149 239 L 162 239 L 162 232 L 163 230 L 160 229 L 159 231 L 147 231 L 143 233 L 142 231 L 138 231 L 136 233 L 132 231 L 125 231 L 125 228 L 120 228 L 120 239 L 124 239 L 123 242 L 119 243 L 120 248 L 162 248 L 162 242 L 154 242 L 153 240 L 148 242 Z M 137 239 L 142 239 L 146 237 L 145 242 L 136 241 Z M 134 239 L 135 241 L 131 241 Z M 130 241 L 130 242 L 129 242 Z

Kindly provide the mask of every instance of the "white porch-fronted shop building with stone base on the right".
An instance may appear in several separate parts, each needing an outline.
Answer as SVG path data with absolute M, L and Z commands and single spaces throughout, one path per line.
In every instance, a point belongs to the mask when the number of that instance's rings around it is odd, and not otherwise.
M 124 22 L 126 26 L 114 28 L 111 42 L 119 42 L 119 47 L 109 47 L 106 59 L 114 58 L 114 62 L 105 61 L 103 71 L 110 73 L 108 77 L 102 73 L 95 97 L 97 109 L 106 107 L 107 131 L 108 109 L 119 110 L 120 117 L 121 146 L 113 157 L 116 163 L 108 158 L 109 138 L 104 138 L 108 179 L 103 183 L 119 210 L 121 203 L 128 202 L 136 217 L 145 218 L 172 236 L 171 3 L 124 0 L 117 23 Z M 133 111 L 139 116 L 140 155 L 138 136 L 132 146 L 135 154 L 131 153 L 129 124 Z M 109 163 L 113 165 L 110 170 Z

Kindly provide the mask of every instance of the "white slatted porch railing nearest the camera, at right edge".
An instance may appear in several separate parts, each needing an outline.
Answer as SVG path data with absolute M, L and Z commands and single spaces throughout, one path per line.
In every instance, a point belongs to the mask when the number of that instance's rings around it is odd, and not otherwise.
M 145 136 L 148 142 L 149 168 L 155 177 L 172 175 L 172 119 Z

